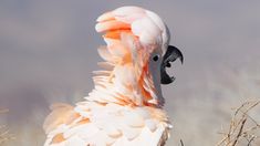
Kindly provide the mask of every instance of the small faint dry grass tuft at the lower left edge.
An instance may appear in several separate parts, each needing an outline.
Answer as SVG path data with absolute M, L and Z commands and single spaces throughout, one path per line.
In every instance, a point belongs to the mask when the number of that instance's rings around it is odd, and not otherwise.
M 8 109 L 0 109 L 0 114 L 7 113 Z M 10 134 L 6 125 L 0 125 L 0 145 L 3 145 L 6 142 L 12 139 L 13 136 Z

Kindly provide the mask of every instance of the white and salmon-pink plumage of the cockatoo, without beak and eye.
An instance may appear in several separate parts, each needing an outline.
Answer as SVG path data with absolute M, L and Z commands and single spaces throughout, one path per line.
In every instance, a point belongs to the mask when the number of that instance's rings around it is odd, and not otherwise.
M 95 87 L 83 102 L 52 106 L 44 146 L 164 145 L 170 128 L 160 91 L 166 25 L 152 11 L 123 7 L 102 14 L 95 29 L 107 44 L 98 49 L 104 71 L 94 72 Z

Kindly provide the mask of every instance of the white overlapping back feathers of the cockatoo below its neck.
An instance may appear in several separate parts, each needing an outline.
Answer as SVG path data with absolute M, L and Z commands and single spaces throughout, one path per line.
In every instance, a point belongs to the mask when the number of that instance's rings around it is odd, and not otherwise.
M 72 109 L 69 105 L 53 107 L 60 112 Z M 157 146 L 168 136 L 165 135 L 168 133 L 167 123 L 164 122 L 166 117 L 159 114 L 163 112 L 159 109 L 81 102 L 74 112 L 81 116 L 79 121 L 52 129 L 45 146 Z M 160 116 L 155 116 L 155 113 Z

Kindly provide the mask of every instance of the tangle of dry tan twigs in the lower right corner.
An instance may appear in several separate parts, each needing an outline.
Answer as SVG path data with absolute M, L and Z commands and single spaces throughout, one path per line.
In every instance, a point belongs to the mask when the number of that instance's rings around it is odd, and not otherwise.
M 260 105 L 260 101 L 246 102 L 241 106 L 235 108 L 235 113 L 227 132 L 217 146 L 252 146 L 259 145 L 260 124 L 249 113 Z M 257 144 L 258 143 L 258 144 Z

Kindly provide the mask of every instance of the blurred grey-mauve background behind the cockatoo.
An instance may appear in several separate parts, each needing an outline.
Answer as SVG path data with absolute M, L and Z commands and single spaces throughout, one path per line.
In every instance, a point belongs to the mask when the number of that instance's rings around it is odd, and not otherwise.
M 0 109 L 9 112 L 0 124 L 15 137 L 4 145 L 43 145 L 49 105 L 87 95 L 104 44 L 95 20 L 122 6 L 158 13 L 185 56 L 170 70 L 175 83 L 163 86 L 174 124 L 167 146 L 217 144 L 231 107 L 260 98 L 259 0 L 1 0 Z

